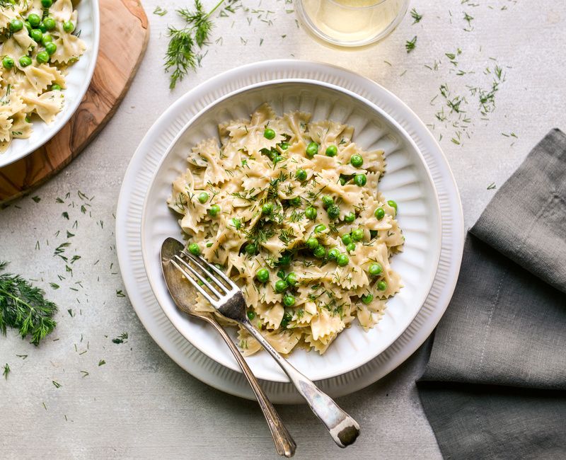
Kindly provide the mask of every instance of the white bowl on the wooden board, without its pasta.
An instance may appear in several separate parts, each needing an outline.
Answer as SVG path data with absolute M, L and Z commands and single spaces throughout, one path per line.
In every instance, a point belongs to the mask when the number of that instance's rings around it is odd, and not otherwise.
M 64 90 L 63 110 L 57 114 L 51 125 L 37 120 L 33 123 L 33 133 L 28 139 L 13 139 L 8 149 L 0 154 L 0 168 L 37 150 L 51 139 L 69 121 L 79 108 L 83 96 L 91 84 L 100 35 L 98 0 L 80 0 L 76 6 L 79 12 L 76 30 L 81 30 L 81 39 L 86 44 L 86 52 L 78 62 L 69 67 L 65 76 L 67 89 Z

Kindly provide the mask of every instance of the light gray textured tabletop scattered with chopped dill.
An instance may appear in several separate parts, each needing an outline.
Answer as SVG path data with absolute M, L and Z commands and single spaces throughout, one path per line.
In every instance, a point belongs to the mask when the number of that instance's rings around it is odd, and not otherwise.
M 223 37 L 221 46 L 212 46 L 202 69 L 173 93 L 161 69 L 166 24 L 174 21 L 175 6 L 192 1 L 143 3 L 151 22 L 149 47 L 115 117 L 57 178 L 0 211 L 0 259 L 11 260 L 12 271 L 36 279 L 61 309 L 51 338 L 59 340 L 35 348 L 13 333 L 0 338 L 0 365 L 7 362 L 11 367 L 7 381 L 0 380 L 3 458 L 275 458 L 258 408 L 183 372 L 151 340 L 127 298 L 117 296 L 123 286 L 112 214 L 122 176 L 139 139 L 158 115 L 200 81 L 240 64 L 277 57 L 330 62 L 378 81 L 424 122 L 436 122 L 433 133 L 443 135 L 441 145 L 461 191 L 467 225 L 492 197 L 487 185 L 500 185 L 551 127 L 566 127 L 563 2 L 541 0 L 533 6 L 525 0 L 474 0 L 464 5 L 461 0 L 413 1 L 424 15 L 419 24 L 411 25 L 407 17 L 381 44 L 345 52 L 318 45 L 297 29 L 294 14 L 285 13 L 291 6 L 284 1 L 245 0 L 250 8 L 260 4 L 259 9 L 274 11 L 269 15 L 272 25 L 252 11 L 219 18 L 215 35 Z M 157 5 L 170 12 L 163 17 L 152 14 Z M 463 11 L 474 17 L 471 32 L 463 30 L 468 26 Z M 250 25 L 246 17 L 252 18 Z M 415 35 L 417 48 L 407 54 L 405 40 Z M 456 68 L 444 54 L 458 47 L 462 54 Z M 506 81 L 495 96 L 495 112 L 483 121 L 465 85 L 489 84 L 492 77 L 483 69 L 493 68 L 490 57 L 504 66 Z M 436 71 L 424 67 L 434 68 L 435 60 L 442 62 Z M 458 76 L 458 69 L 475 73 Z M 454 128 L 434 117 L 441 97 L 434 100 L 436 105 L 430 103 L 444 83 L 453 94 L 468 94 L 466 110 L 474 126 L 461 146 L 450 141 Z M 511 132 L 519 138 L 502 135 Z M 85 213 L 77 190 L 93 197 Z M 57 197 L 65 204 L 57 203 Z M 69 220 L 62 216 L 65 211 Z M 75 220 L 78 228 L 73 227 Z M 66 254 L 81 255 L 72 264 L 72 278 L 64 261 L 53 255 L 54 248 L 67 241 L 67 230 L 75 236 L 69 238 Z M 58 274 L 66 279 L 59 281 Z M 50 282 L 61 287 L 54 290 Z M 127 343 L 112 343 L 122 332 L 129 334 Z M 281 407 L 299 444 L 296 458 L 438 458 L 415 391 L 423 356 L 421 349 L 382 381 L 340 400 L 363 430 L 346 451 L 334 447 L 309 410 Z M 98 366 L 100 360 L 106 364 Z

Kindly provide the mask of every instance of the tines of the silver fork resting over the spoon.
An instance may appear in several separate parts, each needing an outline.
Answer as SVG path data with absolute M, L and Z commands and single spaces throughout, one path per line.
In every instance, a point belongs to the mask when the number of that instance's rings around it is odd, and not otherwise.
M 215 308 L 224 304 L 224 301 L 239 289 L 221 270 L 200 255 L 192 255 L 183 250 L 180 254 L 175 254 L 171 263 Z

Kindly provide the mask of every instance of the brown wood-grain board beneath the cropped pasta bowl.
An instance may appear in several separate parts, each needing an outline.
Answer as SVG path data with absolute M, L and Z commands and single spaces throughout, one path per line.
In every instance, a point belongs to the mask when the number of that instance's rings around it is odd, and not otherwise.
M 0 203 L 50 179 L 96 137 L 132 83 L 148 38 L 147 16 L 138 0 L 100 0 L 100 46 L 91 86 L 67 125 L 47 144 L 0 168 Z

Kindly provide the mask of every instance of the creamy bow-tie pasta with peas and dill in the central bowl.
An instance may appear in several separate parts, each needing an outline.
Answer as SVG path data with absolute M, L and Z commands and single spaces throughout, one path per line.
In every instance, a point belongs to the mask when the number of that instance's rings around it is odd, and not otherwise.
M 373 328 L 402 287 L 390 265 L 403 249 L 397 205 L 378 190 L 383 151 L 364 151 L 354 129 L 308 113 L 219 125 L 187 156 L 168 205 L 192 253 L 243 291 L 248 317 L 282 353 L 323 354 L 357 318 Z M 197 306 L 213 311 L 202 297 Z M 260 345 L 243 328 L 244 355 Z

